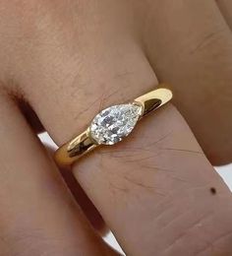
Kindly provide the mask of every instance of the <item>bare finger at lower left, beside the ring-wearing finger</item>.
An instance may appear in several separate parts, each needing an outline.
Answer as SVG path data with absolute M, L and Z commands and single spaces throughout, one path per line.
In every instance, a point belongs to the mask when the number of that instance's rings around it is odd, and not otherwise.
M 115 255 L 87 224 L 15 103 L 2 95 L 0 102 L 0 254 Z

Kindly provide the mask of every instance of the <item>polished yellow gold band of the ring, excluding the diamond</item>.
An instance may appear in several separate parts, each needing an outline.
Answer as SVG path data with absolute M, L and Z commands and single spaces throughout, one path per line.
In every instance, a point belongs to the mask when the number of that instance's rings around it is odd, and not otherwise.
M 159 85 L 165 87 L 165 85 Z M 131 105 L 139 105 L 142 108 L 138 120 L 144 117 L 147 113 L 157 109 L 172 98 L 172 92 L 168 89 L 159 88 L 151 91 L 144 96 L 137 97 Z M 119 105 L 120 106 L 120 105 Z M 116 106 L 117 107 L 117 106 Z M 90 127 L 90 126 L 89 126 Z M 55 161 L 59 165 L 69 165 L 80 159 L 100 144 L 91 136 L 90 128 L 77 136 L 70 142 L 61 146 L 55 153 Z M 134 127 L 133 127 L 134 128 Z M 127 135 L 126 135 L 127 136 Z M 126 137 L 124 136 L 124 137 Z

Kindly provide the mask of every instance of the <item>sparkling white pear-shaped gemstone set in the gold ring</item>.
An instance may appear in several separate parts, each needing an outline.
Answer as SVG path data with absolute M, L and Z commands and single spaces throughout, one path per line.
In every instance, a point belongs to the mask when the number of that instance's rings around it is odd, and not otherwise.
M 90 135 L 98 144 L 113 145 L 128 136 L 142 114 L 134 104 L 113 105 L 98 113 L 90 124 Z

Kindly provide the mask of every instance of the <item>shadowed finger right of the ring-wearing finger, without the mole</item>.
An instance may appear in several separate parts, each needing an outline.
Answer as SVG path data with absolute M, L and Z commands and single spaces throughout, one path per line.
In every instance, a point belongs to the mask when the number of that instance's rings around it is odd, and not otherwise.
M 214 1 L 153 1 L 147 55 L 214 164 L 231 161 L 232 34 Z M 162 21 L 162 22 L 160 22 Z

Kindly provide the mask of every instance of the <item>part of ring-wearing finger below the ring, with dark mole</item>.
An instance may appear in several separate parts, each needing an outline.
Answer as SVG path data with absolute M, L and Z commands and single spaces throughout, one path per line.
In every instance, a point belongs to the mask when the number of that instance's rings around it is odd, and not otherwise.
M 231 195 L 173 107 L 74 173 L 129 255 L 231 253 Z

